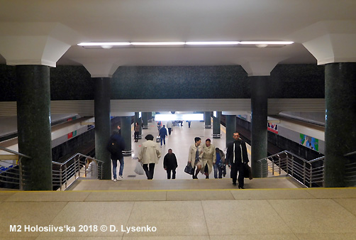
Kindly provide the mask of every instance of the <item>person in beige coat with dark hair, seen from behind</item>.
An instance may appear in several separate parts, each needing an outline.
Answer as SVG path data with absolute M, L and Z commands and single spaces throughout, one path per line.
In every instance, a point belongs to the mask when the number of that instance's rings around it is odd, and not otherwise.
M 140 153 L 138 154 L 138 161 L 143 165 L 143 170 L 145 170 L 148 180 L 153 179 L 153 174 L 155 172 L 155 164 L 158 163 L 161 157 L 160 148 L 158 148 L 157 143 L 153 141 L 153 136 L 148 134 L 145 136 L 145 141 L 142 143 L 140 148 Z

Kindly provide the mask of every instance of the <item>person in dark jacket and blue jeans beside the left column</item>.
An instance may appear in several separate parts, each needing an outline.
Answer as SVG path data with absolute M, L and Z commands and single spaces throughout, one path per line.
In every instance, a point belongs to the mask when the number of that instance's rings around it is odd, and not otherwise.
M 123 138 L 121 137 L 120 134 L 113 133 L 111 135 L 110 140 L 108 145 L 106 146 L 106 149 L 110 152 L 111 154 L 111 160 L 113 163 L 113 181 L 116 182 L 116 180 L 122 180 L 123 179 L 123 150 L 125 149 L 125 141 L 123 141 Z M 118 166 L 118 161 L 120 162 L 120 170 L 118 171 L 118 178 L 116 175 L 116 168 Z

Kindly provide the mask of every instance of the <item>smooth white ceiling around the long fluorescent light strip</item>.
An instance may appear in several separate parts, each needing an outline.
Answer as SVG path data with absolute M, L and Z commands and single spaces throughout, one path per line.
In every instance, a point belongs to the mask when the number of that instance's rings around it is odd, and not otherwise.
M 0 22 L 59 22 L 81 41 L 294 40 L 318 21 L 356 20 L 355 0 L 0 0 Z M 1 33 L 0 33 L 1 34 Z M 301 43 L 282 48 L 185 47 L 85 49 L 73 59 L 115 59 L 118 65 L 240 65 L 249 60 L 316 63 Z M 1 56 L 0 63 L 6 60 Z

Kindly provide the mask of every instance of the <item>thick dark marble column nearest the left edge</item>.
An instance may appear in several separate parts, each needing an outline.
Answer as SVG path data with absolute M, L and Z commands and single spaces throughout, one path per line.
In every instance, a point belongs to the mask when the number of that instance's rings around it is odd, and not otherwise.
M 23 159 L 23 190 L 52 190 L 50 67 L 16 66 L 18 152 Z

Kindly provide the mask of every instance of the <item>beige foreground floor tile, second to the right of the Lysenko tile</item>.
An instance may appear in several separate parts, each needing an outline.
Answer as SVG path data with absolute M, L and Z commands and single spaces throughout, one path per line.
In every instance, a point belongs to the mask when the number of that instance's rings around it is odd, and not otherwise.
M 356 233 L 356 217 L 333 200 L 267 200 L 294 234 Z

